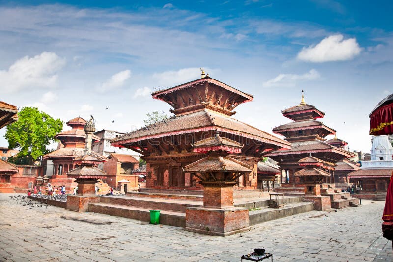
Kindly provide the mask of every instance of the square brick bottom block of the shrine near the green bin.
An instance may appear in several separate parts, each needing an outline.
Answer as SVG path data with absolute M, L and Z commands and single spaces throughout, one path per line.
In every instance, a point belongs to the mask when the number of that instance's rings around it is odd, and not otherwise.
M 247 208 L 206 208 L 186 209 L 185 230 L 214 235 L 229 236 L 249 229 Z

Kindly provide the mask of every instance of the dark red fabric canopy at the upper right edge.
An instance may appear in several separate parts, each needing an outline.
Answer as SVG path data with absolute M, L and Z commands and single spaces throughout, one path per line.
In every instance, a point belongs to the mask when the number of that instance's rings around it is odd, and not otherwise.
M 388 99 L 390 96 L 370 114 L 370 135 L 393 134 L 393 100 Z

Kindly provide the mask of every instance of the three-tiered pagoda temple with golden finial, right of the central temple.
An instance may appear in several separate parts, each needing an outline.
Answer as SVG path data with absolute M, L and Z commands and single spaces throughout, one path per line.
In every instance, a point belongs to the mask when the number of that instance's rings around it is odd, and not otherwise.
M 309 154 L 333 165 L 342 158 L 352 156 L 343 148 L 325 142 L 325 137 L 336 134 L 336 131 L 316 120 L 323 118 L 325 113 L 314 105 L 306 104 L 303 95 L 299 105 L 283 110 L 282 114 L 293 121 L 273 128 L 273 132 L 285 136 L 285 140 L 292 144 L 292 148 L 277 150 L 266 155 L 277 161 L 281 170 L 285 170 L 281 186 L 288 187 L 301 183 L 300 177 L 295 176 L 295 172 L 303 169 L 298 161 L 308 157 Z M 334 169 L 327 171 L 329 176 L 325 176 L 323 182 L 334 183 Z

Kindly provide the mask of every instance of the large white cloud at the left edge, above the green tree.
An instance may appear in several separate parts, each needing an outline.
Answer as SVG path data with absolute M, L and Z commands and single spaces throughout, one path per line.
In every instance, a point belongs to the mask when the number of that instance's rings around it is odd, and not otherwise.
M 65 59 L 54 52 L 25 56 L 15 61 L 8 70 L 0 70 L 0 90 L 12 93 L 25 88 L 54 87 L 57 72 L 64 65 Z

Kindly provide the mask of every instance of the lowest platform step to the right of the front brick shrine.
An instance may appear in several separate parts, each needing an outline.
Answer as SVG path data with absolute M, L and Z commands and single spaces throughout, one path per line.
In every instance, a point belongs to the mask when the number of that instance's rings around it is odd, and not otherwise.
M 286 204 L 285 206 L 278 209 L 262 208 L 260 210 L 249 211 L 249 223 L 250 226 L 252 226 L 266 221 L 305 213 L 312 210 L 314 210 L 314 203 L 311 202 L 297 202 Z

